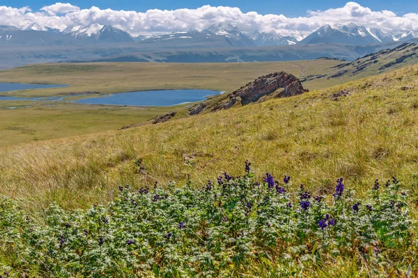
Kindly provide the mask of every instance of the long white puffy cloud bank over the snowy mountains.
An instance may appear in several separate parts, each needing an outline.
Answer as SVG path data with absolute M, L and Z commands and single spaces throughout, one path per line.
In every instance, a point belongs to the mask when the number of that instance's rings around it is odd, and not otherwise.
M 242 13 L 240 8 L 202 6 L 196 9 L 147 10 L 145 13 L 127 10 L 81 9 L 71 3 L 55 3 L 38 11 L 30 7 L 0 6 L 0 25 L 24 28 L 33 22 L 57 28 L 87 26 L 91 23 L 113 25 L 131 35 L 169 33 L 189 29 L 202 30 L 214 24 L 234 24 L 242 31 L 263 31 L 293 37 L 305 37 L 326 24 L 355 22 L 367 28 L 385 32 L 418 31 L 418 13 L 398 16 L 390 10 L 373 11 L 355 2 L 341 8 L 307 11 L 304 17 Z

